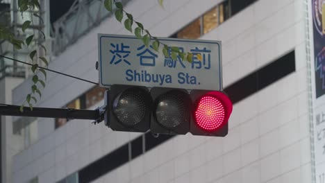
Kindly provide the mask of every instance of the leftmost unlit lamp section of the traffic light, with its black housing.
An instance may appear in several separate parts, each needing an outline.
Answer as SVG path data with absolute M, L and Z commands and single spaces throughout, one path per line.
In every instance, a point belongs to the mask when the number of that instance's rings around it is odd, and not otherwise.
M 149 89 L 130 85 L 110 87 L 108 124 L 112 130 L 147 132 L 152 100 Z

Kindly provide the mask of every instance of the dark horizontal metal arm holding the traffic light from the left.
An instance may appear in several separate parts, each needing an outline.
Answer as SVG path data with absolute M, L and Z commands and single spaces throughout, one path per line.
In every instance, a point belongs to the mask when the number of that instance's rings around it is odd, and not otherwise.
M 30 116 L 41 118 L 63 118 L 63 119 L 93 119 L 100 117 L 99 110 L 74 110 L 44 107 L 24 107 L 24 112 L 20 112 L 19 105 L 0 104 L 0 116 Z

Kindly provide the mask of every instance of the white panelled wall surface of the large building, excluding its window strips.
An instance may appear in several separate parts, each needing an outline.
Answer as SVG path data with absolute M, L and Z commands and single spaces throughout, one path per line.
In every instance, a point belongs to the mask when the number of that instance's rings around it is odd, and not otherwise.
M 165 9 L 156 1 L 131 1 L 126 10 L 153 35 L 163 37 L 217 4 L 164 2 Z M 296 51 L 294 73 L 234 106 L 225 138 L 175 137 L 95 182 L 311 182 L 303 12 L 303 0 L 260 0 L 201 37 L 222 40 L 225 87 Z M 108 19 L 49 68 L 97 81 L 97 33 L 128 34 L 115 19 Z M 49 73 L 48 78 L 39 103 L 43 107 L 61 107 L 92 87 L 57 74 Z M 22 92 L 29 86 L 25 82 L 15 89 L 14 103 L 23 101 Z M 56 182 L 138 135 L 80 120 L 55 131 L 53 120 L 44 120 L 42 129 L 46 132 L 38 143 L 15 157 L 15 182 L 35 175 L 40 182 Z

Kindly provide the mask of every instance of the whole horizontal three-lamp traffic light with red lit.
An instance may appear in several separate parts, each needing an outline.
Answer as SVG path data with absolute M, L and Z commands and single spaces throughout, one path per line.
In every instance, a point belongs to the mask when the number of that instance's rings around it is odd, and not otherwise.
M 228 134 L 231 100 L 219 91 L 112 85 L 106 124 L 116 131 L 158 134 Z

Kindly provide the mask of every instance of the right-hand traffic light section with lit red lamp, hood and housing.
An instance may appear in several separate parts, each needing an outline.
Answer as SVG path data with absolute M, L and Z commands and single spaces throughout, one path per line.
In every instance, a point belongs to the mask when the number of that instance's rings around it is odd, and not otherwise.
M 190 96 L 194 102 L 190 132 L 194 135 L 226 136 L 233 110 L 228 96 L 219 91 L 198 89 L 192 90 Z

